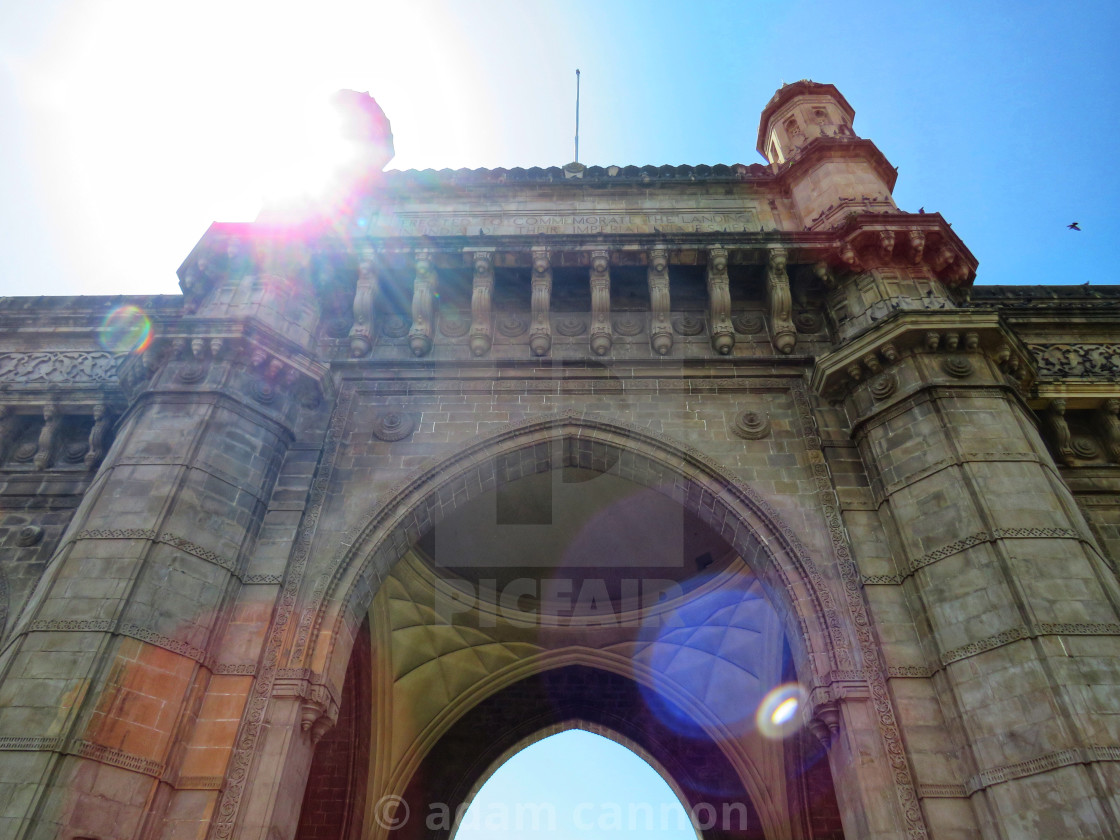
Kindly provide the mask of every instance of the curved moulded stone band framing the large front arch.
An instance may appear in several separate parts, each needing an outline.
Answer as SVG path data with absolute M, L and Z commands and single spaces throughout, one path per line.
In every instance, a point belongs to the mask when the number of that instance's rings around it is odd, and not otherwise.
M 559 446 L 557 446 L 559 445 Z M 559 455 L 558 455 L 559 454 Z M 557 458 L 563 460 L 556 464 Z M 590 413 L 531 418 L 460 446 L 385 493 L 357 536 L 316 582 L 289 663 L 343 682 L 357 628 L 380 581 L 424 533 L 504 477 L 559 466 L 613 472 L 697 514 L 772 592 L 801 680 L 827 684 L 858 670 L 850 617 L 793 530 L 754 489 L 696 449 Z

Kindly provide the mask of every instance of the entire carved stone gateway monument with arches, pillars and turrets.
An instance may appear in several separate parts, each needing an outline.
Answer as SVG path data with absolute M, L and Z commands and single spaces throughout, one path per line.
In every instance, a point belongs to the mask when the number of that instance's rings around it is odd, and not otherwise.
M 750 166 L 357 100 L 181 296 L 0 301 L 4 837 L 449 837 L 572 726 L 704 837 L 1120 837 L 1120 288 L 973 288 L 831 85 Z

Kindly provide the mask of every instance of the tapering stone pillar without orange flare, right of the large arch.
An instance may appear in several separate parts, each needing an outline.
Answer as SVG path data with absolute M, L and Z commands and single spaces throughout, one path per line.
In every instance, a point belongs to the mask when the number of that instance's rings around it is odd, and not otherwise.
M 814 373 L 889 539 L 865 581 L 933 838 L 1120 833 L 1120 588 L 1021 399 L 1026 358 L 995 314 L 915 312 Z

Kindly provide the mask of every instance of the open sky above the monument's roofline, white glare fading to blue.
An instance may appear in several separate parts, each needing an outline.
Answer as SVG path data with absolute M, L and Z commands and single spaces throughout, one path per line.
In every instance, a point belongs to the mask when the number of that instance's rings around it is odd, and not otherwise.
M 338 87 L 384 105 L 394 167 L 567 162 L 577 66 L 584 162 L 753 162 L 774 90 L 832 82 L 979 282 L 1107 283 L 1117 43 L 1107 2 L 6 3 L 0 293 L 174 292 Z

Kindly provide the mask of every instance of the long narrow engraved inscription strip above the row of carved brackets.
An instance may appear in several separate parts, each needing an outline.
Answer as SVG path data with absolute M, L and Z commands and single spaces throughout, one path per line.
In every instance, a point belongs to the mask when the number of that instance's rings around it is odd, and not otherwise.
M 736 213 L 392 214 L 374 220 L 372 236 L 493 236 L 538 233 L 721 233 L 758 230 L 754 211 Z

